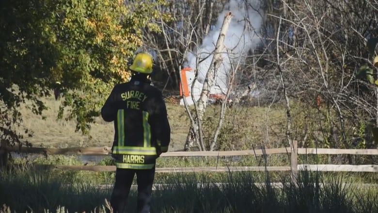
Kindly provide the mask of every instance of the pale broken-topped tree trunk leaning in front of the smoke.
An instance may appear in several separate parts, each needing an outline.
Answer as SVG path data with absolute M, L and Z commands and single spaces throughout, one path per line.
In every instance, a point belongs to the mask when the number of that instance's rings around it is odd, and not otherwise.
M 198 107 L 196 109 L 198 114 L 196 115 L 196 119 L 194 119 L 195 122 L 197 123 L 195 125 L 190 126 L 188 136 L 187 136 L 187 141 L 185 142 L 185 146 L 184 146 L 184 150 L 186 151 L 188 151 L 191 147 L 194 146 L 194 140 L 196 138 L 194 138 L 193 136 L 199 135 L 196 132 L 201 131 L 199 127 L 201 126 L 202 118 L 205 115 L 207 101 L 210 94 L 210 88 L 214 85 L 215 73 L 216 73 L 215 71 L 218 69 L 222 61 L 221 54 L 223 53 L 223 50 L 224 50 L 224 38 L 228 31 L 228 27 L 230 25 L 232 16 L 233 15 L 231 14 L 231 12 L 228 12 L 224 17 L 223 24 L 221 27 L 221 32 L 219 33 L 217 44 L 214 50 L 214 57 L 211 61 L 209 69 L 207 70 L 204 86 L 202 88 L 202 92 L 200 95 L 200 99 L 198 103 L 194 103 L 194 104 L 198 104 L 197 105 Z M 195 127 L 196 130 L 193 130 L 193 127 Z M 201 147 L 204 147 L 202 141 L 200 141 L 200 145 Z

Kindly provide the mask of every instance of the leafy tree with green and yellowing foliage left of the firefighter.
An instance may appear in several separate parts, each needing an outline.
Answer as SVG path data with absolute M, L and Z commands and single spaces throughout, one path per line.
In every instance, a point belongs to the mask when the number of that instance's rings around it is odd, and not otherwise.
M 0 3 L 0 136 L 20 142 L 18 107 L 38 115 L 61 82 L 59 118 L 86 133 L 114 83 L 127 81 L 127 58 L 163 0 L 3 0 Z M 65 111 L 64 109 L 68 109 Z M 66 113 L 67 115 L 65 115 Z

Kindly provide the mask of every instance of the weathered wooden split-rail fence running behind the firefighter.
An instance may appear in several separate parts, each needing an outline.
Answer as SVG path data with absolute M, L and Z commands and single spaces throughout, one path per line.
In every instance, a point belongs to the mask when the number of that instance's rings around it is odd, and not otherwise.
M 2 146 L 4 147 L 4 146 Z M 110 155 L 110 147 L 5 147 L 7 152 L 38 153 L 45 155 Z M 298 155 L 326 154 L 326 155 L 378 155 L 378 149 L 334 149 L 334 148 L 298 148 L 297 141 L 292 147 L 253 149 L 239 151 L 173 151 L 163 153 L 161 157 L 193 157 L 193 156 L 261 156 L 271 154 L 289 154 L 290 166 L 209 166 L 209 167 L 165 167 L 156 168 L 158 173 L 172 172 L 225 172 L 225 171 L 291 171 L 292 177 L 297 177 L 298 170 L 315 171 L 347 171 L 347 172 L 378 172 L 377 164 L 349 165 L 349 164 L 298 164 Z M 46 169 L 71 171 L 115 171 L 115 166 L 102 165 L 43 165 Z

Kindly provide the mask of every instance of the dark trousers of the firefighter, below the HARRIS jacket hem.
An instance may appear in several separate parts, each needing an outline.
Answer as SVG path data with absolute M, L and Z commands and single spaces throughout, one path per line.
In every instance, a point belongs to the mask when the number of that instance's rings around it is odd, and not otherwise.
M 152 184 L 155 178 L 155 167 L 152 169 L 120 169 L 115 172 L 115 183 L 110 197 L 113 213 L 124 213 L 126 200 L 134 175 L 137 174 L 138 198 L 137 213 L 149 213 L 151 207 Z

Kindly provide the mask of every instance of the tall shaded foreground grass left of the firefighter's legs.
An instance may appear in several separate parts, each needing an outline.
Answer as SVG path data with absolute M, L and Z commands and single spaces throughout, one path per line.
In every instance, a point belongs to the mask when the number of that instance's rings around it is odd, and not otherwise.
M 109 197 L 110 188 L 98 188 L 90 181 L 67 183 L 53 172 L 13 170 L 1 174 L 0 203 L 17 213 L 53 211 L 64 206 L 69 212 L 93 210 Z

